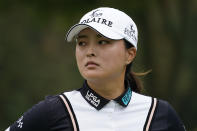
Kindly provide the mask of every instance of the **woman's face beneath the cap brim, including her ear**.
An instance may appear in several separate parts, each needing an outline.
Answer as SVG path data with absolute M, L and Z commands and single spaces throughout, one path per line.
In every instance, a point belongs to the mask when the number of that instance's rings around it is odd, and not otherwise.
M 76 39 L 76 60 L 86 80 L 109 80 L 124 76 L 126 65 L 135 57 L 135 48 L 126 49 L 124 40 L 105 38 L 90 28 Z

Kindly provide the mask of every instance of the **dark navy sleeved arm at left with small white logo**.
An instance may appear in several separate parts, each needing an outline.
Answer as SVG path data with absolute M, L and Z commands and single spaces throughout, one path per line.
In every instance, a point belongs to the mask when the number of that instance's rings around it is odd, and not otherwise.
M 70 116 L 58 96 L 44 101 L 25 112 L 6 131 L 73 131 Z

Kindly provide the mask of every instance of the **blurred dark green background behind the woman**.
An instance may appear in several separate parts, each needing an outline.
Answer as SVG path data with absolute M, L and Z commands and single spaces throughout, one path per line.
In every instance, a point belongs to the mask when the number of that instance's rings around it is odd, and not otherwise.
M 75 45 L 66 31 L 101 6 L 118 8 L 138 26 L 133 70 L 143 94 L 169 101 L 197 131 L 197 0 L 0 0 L 0 130 L 54 95 L 81 87 Z

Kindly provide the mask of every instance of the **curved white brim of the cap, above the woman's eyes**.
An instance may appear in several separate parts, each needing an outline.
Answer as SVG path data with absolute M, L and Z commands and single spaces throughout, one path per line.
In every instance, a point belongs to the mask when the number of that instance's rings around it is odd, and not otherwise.
M 71 42 L 74 36 L 76 36 L 80 31 L 88 27 L 109 39 L 120 40 L 124 38 L 120 34 L 116 33 L 116 31 L 110 29 L 111 27 L 106 27 L 106 25 L 98 25 L 93 23 L 93 24 L 76 24 L 72 26 L 68 31 L 68 33 L 66 34 L 66 41 Z

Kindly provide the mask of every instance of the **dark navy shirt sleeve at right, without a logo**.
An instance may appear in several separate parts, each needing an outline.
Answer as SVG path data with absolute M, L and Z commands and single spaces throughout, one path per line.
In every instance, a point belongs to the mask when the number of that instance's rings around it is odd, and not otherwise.
M 158 100 L 151 131 L 185 131 L 185 127 L 172 106 L 166 101 Z

